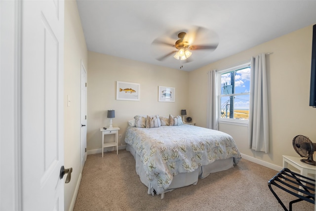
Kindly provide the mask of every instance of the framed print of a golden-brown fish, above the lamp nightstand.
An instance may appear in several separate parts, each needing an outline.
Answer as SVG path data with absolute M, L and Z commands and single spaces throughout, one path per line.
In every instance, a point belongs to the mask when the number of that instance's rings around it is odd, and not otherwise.
M 139 101 L 140 84 L 117 81 L 117 100 Z

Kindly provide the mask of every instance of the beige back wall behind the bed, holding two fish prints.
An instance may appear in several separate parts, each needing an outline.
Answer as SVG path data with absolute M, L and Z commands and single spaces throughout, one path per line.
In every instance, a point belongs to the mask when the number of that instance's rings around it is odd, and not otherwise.
M 127 121 L 135 115 L 180 115 L 188 109 L 189 73 L 128 59 L 88 51 L 88 117 L 87 150 L 101 152 L 100 127 L 108 127 L 107 110 L 115 110 L 113 126 L 122 138 L 118 145 L 125 145 Z M 140 101 L 116 100 L 116 82 L 140 84 Z M 175 102 L 158 102 L 158 86 L 175 87 Z M 106 136 L 106 141 L 112 137 Z M 108 139 L 108 140 L 107 140 Z

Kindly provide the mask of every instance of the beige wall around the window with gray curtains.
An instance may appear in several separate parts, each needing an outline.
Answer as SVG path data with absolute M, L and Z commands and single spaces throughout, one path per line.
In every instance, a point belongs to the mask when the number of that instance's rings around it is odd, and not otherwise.
M 190 72 L 189 108 L 197 125 L 206 127 L 209 70 L 272 52 L 267 55 L 270 152 L 248 149 L 248 127 L 220 124 L 219 129 L 233 136 L 242 154 L 279 167 L 282 155 L 298 156 L 292 147 L 295 135 L 306 135 L 316 142 L 316 109 L 309 106 L 312 34 L 309 26 Z

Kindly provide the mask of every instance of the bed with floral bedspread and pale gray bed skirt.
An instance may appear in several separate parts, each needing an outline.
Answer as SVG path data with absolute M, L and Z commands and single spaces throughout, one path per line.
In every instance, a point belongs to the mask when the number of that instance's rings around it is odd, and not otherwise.
M 164 193 L 197 184 L 198 178 L 230 169 L 241 159 L 229 134 L 182 121 L 177 126 L 129 126 L 125 142 L 148 194 L 161 194 L 161 199 Z

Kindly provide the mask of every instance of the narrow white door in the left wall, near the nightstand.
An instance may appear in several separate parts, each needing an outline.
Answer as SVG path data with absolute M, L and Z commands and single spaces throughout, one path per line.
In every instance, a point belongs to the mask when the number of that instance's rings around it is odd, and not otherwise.
M 86 99 L 87 99 L 87 73 L 81 61 L 81 172 L 84 166 L 84 162 L 87 159 L 87 113 L 86 113 Z

